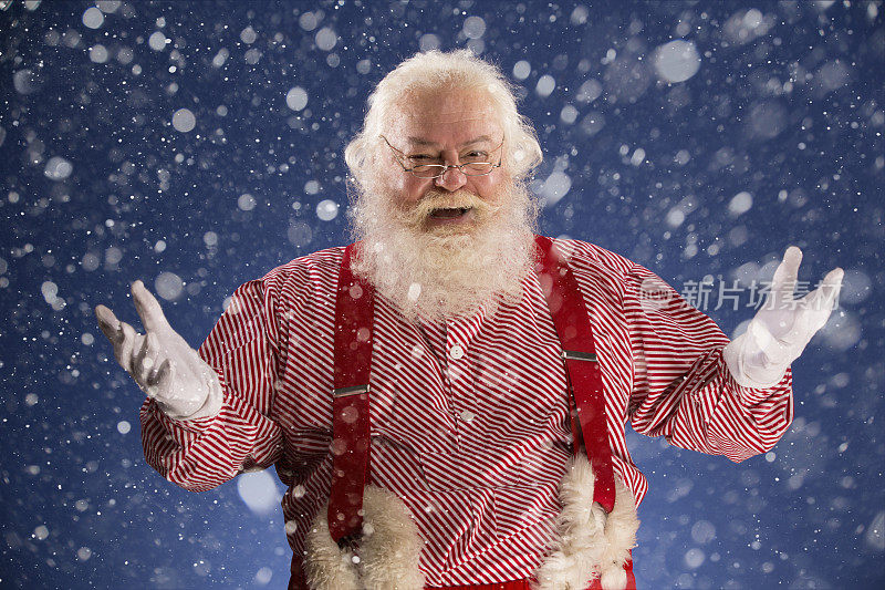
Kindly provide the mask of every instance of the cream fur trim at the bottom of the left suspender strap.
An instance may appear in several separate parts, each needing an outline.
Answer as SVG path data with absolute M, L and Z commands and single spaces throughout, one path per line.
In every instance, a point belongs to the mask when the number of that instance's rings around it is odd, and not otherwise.
M 323 506 L 305 541 L 304 571 L 313 590 L 423 590 L 424 540 L 405 503 L 377 486 L 363 493 L 360 557 L 332 540 Z

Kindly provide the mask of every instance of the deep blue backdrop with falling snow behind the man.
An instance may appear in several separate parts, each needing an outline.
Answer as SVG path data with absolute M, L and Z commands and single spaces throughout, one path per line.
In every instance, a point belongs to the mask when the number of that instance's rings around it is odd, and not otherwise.
M 0 12 L 0 587 L 285 587 L 275 476 L 194 495 L 153 472 L 93 307 L 137 325 L 143 279 L 199 345 L 237 286 L 346 241 L 342 153 L 373 85 L 468 45 L 522 87 L 542 232 L 714 296 L 790 244 L 802 280 L 847 271 L 772 453 L 628 434 L 641 587 L 883 587 L 881 2 L 97 4 Z M 677 39 L 700 60 L 678 82 L 657 59 Z M 729 334 L 741 293 L 706 308 Z

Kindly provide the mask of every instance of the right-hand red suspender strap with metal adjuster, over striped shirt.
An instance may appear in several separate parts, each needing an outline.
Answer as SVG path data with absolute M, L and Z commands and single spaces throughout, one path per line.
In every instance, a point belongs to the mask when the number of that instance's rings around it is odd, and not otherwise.
M 577 452 L 583 438 L 593 475 L 596 476 L 593 500 L 600 503 L 606 513 L 611 513 L 615 505 L 615 478 L 605 422 L 605 394 L 590 314 L 574 273 L 553 249 L 553 240 L 535 236 L 535 245 L 541 251 L 538 278 L 562 344 L 574 448 Z M 575 427 L 575 413 L 580 428 Z

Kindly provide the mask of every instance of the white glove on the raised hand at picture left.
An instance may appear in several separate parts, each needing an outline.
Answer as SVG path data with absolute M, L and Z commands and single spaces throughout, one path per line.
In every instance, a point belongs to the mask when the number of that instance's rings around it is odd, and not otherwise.
M 117 320 L 108 308 L 95 308 L 98 327 L 114 345 L 119 365 L 171 418 L 218 414 L 222 391 L 216 372 L 171 329 L 159 302 L 142 281 L 132 284 L 132 296 L 146 334 Z

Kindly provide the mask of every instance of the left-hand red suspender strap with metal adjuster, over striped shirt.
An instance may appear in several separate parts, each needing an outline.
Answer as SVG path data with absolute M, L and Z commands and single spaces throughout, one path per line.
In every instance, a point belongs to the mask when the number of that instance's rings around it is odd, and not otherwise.
M 332 489 L 327 516 L 329 531 L 339 544 L 362 534 L 363 488 L 368 475 L 374 289 L 351 272 L 354 246 L 344 249 L 335 298 Z

